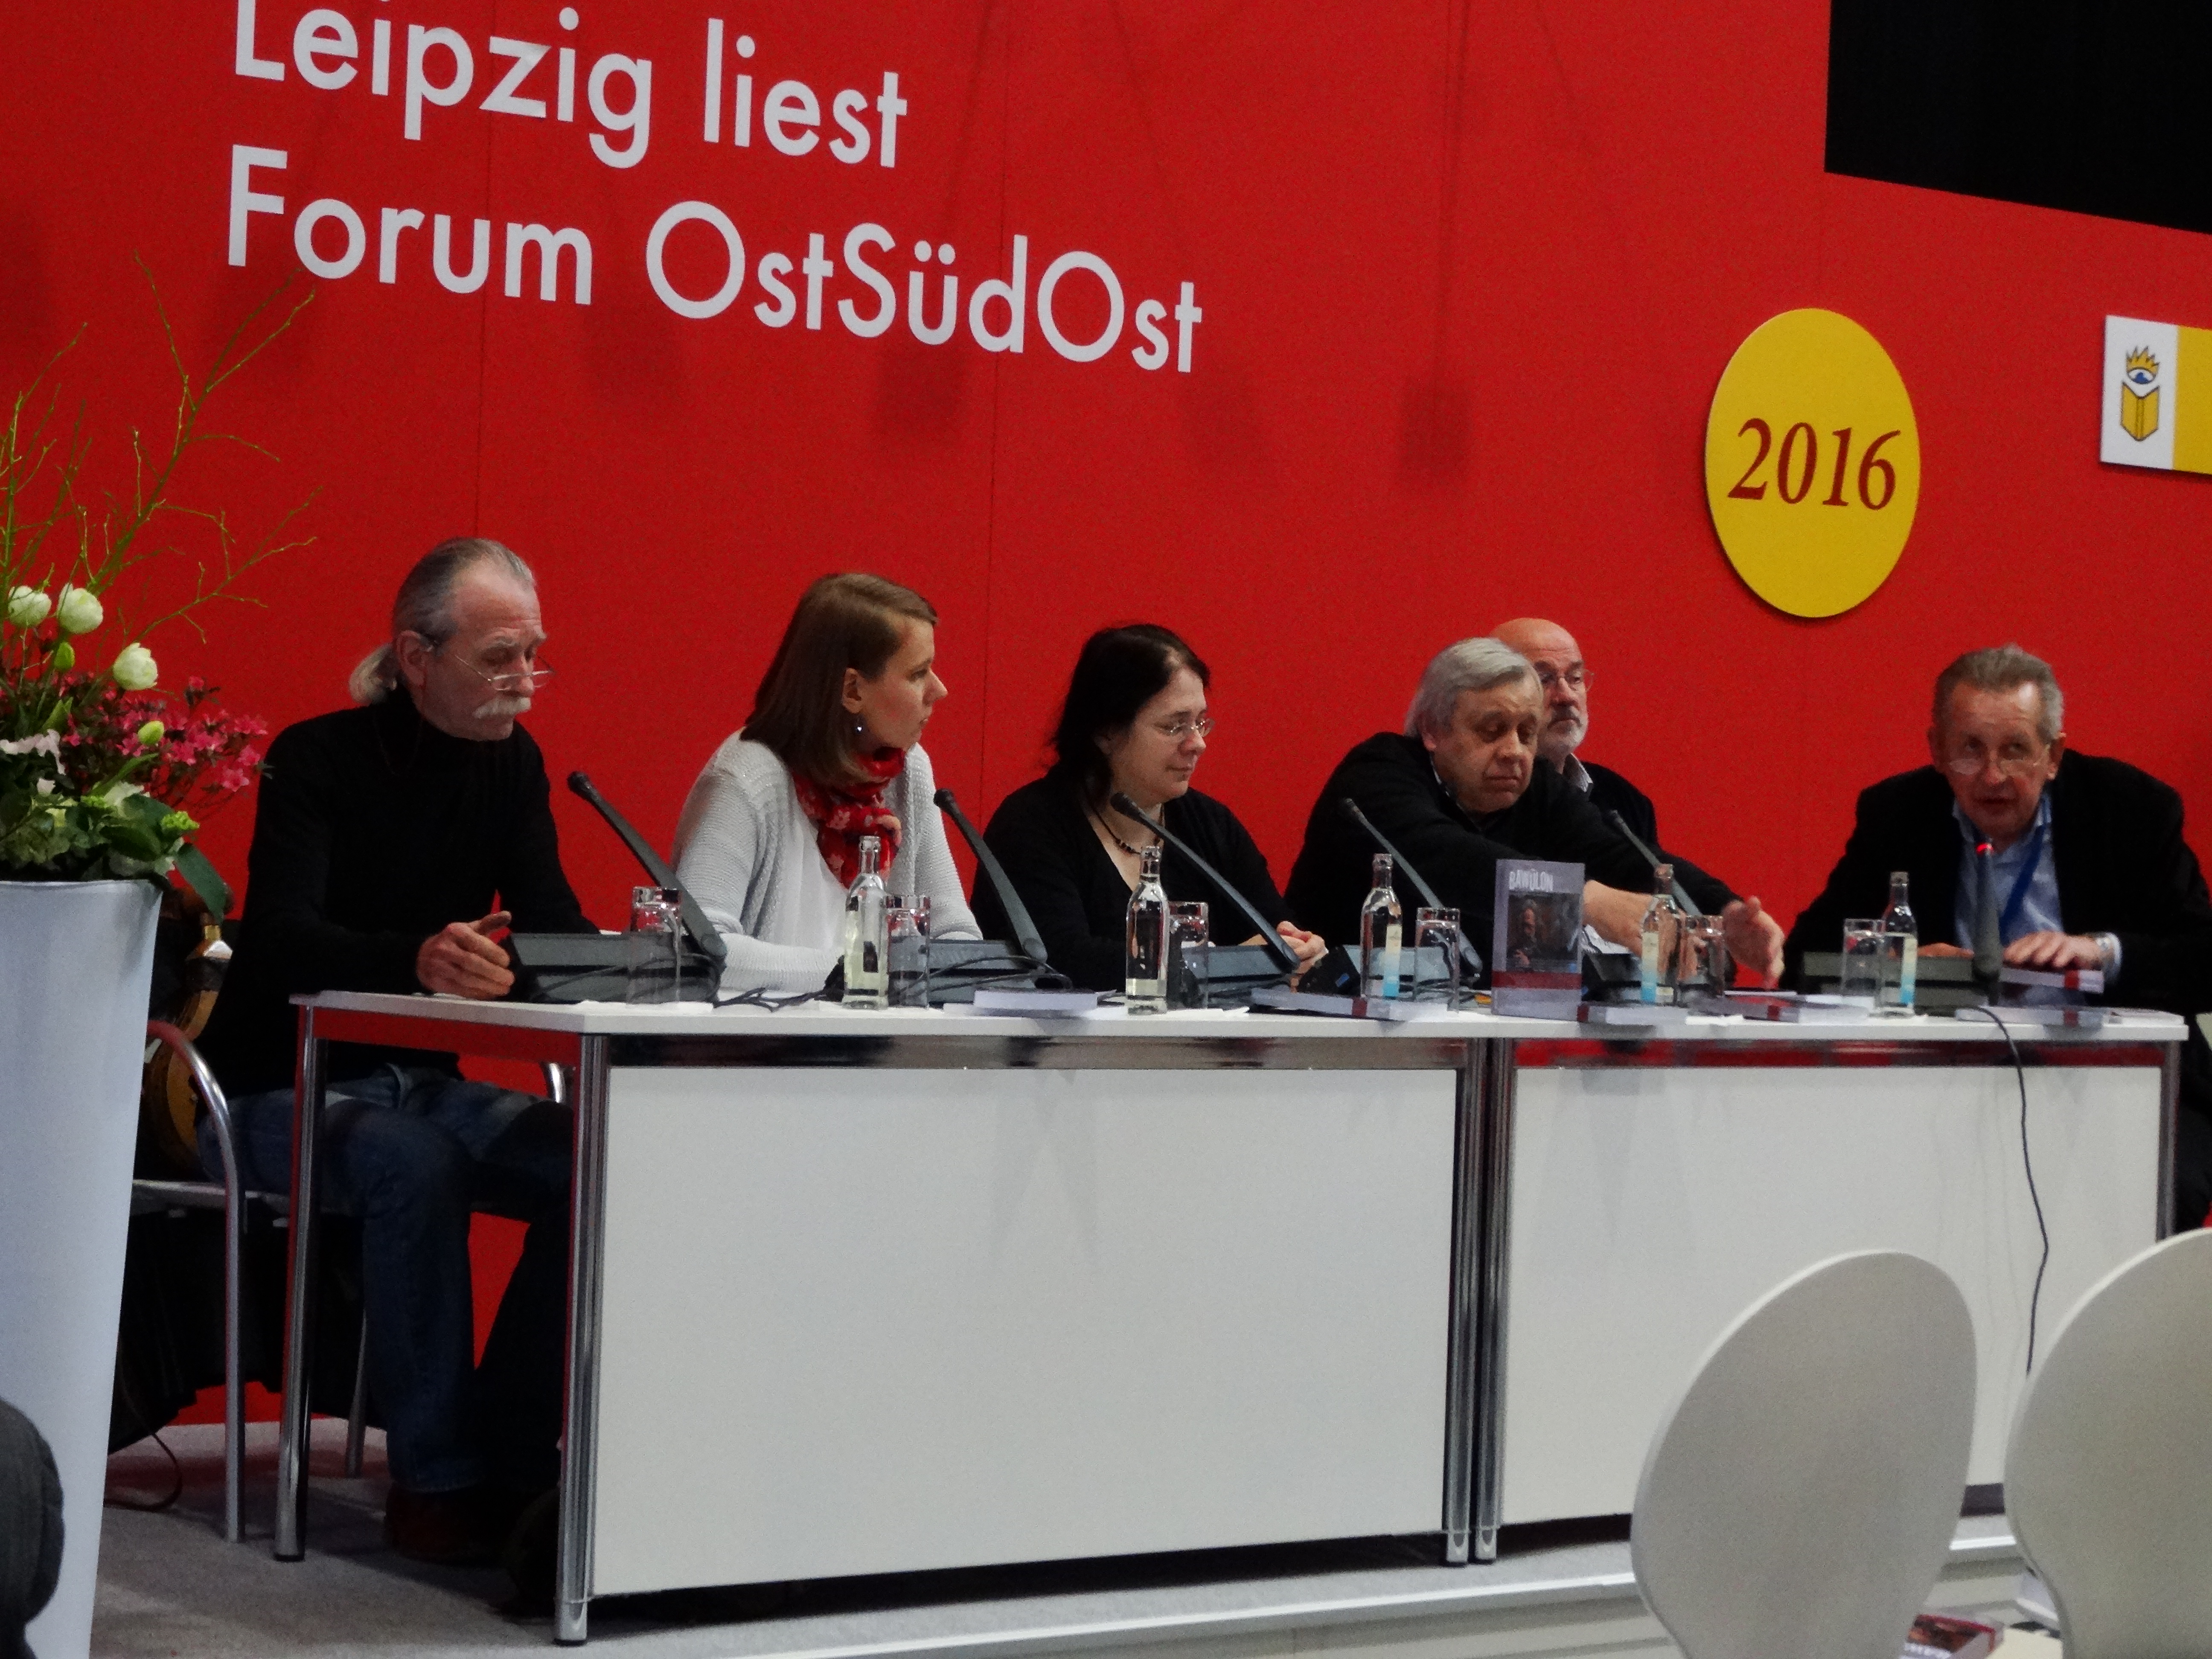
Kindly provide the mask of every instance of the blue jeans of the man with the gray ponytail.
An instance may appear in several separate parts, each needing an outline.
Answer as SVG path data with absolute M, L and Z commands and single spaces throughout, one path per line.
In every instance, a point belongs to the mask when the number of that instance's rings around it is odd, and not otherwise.
M 246 1095 L 230 1115 L 246 1186 L 290 1192 L 292 1091 Z M 549 1099 L 416 1066 L 325 1091 L 323 1208 L 361 1219 L 369 1391 L 409 1491 L 535 1491 L 560 1473 L 571 1124 Z M 210 1121 L 199 1157 L 221 1175 Z M 529 1223 L 473 1367 L 471 1210 Z

